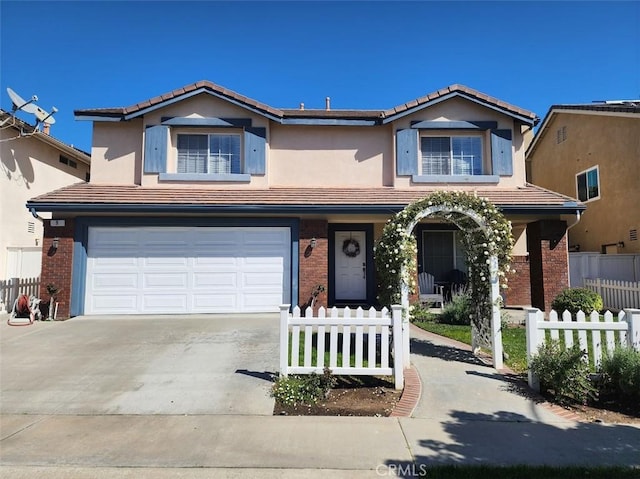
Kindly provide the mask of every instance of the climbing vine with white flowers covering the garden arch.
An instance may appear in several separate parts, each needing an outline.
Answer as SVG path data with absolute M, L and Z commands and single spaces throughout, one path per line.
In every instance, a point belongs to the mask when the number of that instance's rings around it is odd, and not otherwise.
M 407 228 L 425 211 L 430 212 L 430 218 L 453 223 L 460 229 L 466 251 L 472 324 L 477 331 L 486 331 L 492 312 L 489 259 L 498 259 L 498 278 L 506 288 L 513 236 L 511 222 L 488 199 L 474 194 L 439 191 L 408 205 L 387 222 L 375 246 L 378 301 L 383 306 L 400 304 L 403 283 L 409 286 L 410 293 L 416 292 L 417 245 L 413 232 L 407 232 Z

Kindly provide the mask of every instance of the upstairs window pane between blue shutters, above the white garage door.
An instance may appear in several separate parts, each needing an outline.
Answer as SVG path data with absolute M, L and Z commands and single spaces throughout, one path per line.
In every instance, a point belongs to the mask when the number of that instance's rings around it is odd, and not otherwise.
M 178 135 L 178 173 L 242 173 L 240 135 Z

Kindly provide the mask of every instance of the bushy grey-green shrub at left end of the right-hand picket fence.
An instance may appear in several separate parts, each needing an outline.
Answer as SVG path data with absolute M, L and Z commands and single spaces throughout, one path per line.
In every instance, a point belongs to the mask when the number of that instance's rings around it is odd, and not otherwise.
M 589 365 L 582 359 L 584 355 L 578 345 L 564 349 L 558 341 L 550 341 L 538 348 L 531 371 L 538 376 L 541 389 L 556 402 L 585 404 L 594 397 L 595 388 L 589 379 Z

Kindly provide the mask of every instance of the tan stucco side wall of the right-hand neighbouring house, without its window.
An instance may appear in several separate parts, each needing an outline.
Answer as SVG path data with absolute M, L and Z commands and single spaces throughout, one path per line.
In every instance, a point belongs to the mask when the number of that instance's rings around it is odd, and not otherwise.
M 566 127 L 567 139 L 557 143 L 556 131 Z M 528 161 L 534 184 L 577 197 L 576 174 L 598 166 L 600 199 L 588 201 L 580 222 L 569 230 L 569 245 L 600 252 L 601 246 L 623 241 L 609 253 L 640 253 L 640 116 L 616 117 L 559 113 L 552 117 Z

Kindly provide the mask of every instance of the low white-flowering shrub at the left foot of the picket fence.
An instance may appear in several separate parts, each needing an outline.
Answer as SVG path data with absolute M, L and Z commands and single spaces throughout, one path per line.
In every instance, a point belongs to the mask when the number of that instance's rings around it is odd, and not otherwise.
M 327 396 L 329 390 L 336 385 L 336 378 L 329 368 L 323 374 L 292 374 L 280 376 L 271 387 L 271 397 L 281 404 L 297 406 L 298 404 L 315 404 Z

